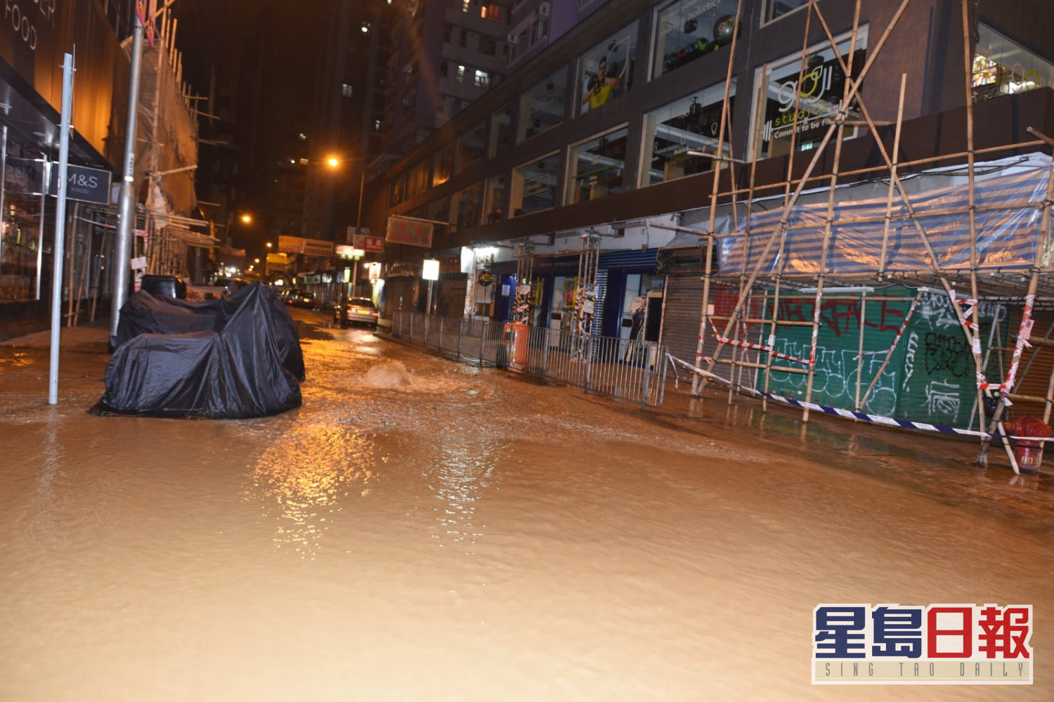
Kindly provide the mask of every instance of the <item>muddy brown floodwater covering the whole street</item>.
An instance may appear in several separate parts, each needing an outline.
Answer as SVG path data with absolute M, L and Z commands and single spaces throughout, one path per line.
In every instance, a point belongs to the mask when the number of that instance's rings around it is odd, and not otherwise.
M 323 317 L 298 312 L 306 321 Z M 299 410 L 106 417 L 0 346 L 0 700 L 1051 700 L 1049 476 L 305 327 Z M 819 603 L 1034 605 L 1032 686 L 813 686 Z

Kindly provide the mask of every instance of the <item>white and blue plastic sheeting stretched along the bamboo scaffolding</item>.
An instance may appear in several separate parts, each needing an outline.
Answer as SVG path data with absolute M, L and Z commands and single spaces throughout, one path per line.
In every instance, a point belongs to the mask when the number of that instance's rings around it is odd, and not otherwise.
M 1003 159 L 977 164 L 976 179 L 977 268 L 1028 269 L 1036 264 L 1041 208 L 1047 197 L 1052 162 L 1049 156 Z M 965 173 L 965 167 L 957 171 Z M 942 170 L 946 173 L 948 170 Z M 885 227 L 886 199 L 851 200 L 852 189 L 838 191 L 827 249 L 826 273 L 862 275 L 879 270 Z M 970 269 L 969 189 L 965 183 L 913 194 L 912 207 L 937 255 L 936 267 Z M 754 213 L 750 236 L 718 240 L 721 275 L 755 270 L 772 233 L 779 228 L 782 208 Z M 924 272 L 933 268 L 918 229 L 907 216 L 899 193 L 894 193 L 890 223 L 887 272 Z M 773 245 L 762 274 L 815 275 L 820 272 L 827 203 L 800 204 L 790 213 L 782 254 Z M 747 225 L 741 220 L 737 231 Z

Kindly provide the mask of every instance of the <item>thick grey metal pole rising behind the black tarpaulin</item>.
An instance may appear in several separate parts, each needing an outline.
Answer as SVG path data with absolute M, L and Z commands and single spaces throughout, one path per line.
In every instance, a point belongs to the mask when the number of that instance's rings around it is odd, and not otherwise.
M 136 117 L 139 112 L 139 73 L 142 67 L 142 21 L 138 13 L 132 31 L 132 75 L 129 78 L 128 121 L 124 129 L 124 178 L 121 181 L 120 198 L 117 202 L 117 260 L 114 271 L 114 287 L 111 291 L 110 346 L 117 340 L 117 325 L 121 318 L 121 307 L 128 299 L 132 260 L 132 222 L 135 219 L 135 144 Z M 153 18 L 151 18 L 153 21 Z

